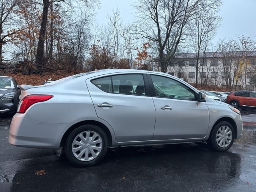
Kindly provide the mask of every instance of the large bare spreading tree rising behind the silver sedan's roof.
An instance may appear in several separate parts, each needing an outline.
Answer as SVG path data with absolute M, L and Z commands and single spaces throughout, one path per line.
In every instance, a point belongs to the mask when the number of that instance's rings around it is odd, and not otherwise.
M 139 0 L 134 5 L 134 32 L 156 44 L 162 72 L 184 40 L 188 23 L 212 6 L 212 0 Z

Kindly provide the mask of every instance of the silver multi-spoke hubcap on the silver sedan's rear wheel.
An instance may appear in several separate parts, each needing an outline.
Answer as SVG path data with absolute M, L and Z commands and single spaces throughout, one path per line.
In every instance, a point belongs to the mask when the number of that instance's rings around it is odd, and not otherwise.
M 84 131 L 78 134 L 72 142 L 72 152 L 80 161 L 91 161 L 100 154 L 102 139 L 94 131 Z

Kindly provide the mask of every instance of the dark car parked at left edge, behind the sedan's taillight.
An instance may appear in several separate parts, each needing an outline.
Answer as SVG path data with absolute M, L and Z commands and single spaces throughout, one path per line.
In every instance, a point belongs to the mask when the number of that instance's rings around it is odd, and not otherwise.
M 20 88 L 12 77 L 0 76 L 0 114 L 15 113 L 18 108 Z

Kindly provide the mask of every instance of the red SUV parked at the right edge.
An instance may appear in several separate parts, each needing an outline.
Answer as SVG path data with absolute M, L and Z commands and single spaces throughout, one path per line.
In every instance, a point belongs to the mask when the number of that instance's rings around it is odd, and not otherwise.
M 227 96 L 226 102 L 234 108 L 254 107 L 256 108 L 255 91 L 234 91 Z

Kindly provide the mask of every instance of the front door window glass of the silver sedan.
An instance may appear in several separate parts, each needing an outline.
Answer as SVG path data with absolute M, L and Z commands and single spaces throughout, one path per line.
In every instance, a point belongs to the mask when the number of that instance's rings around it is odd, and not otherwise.
M 194 91 L 184 84 L 163 76 L 151 75 L 157 97 L 196 100 Z

